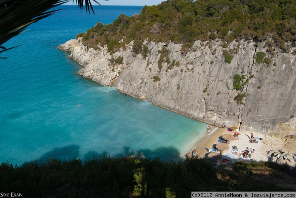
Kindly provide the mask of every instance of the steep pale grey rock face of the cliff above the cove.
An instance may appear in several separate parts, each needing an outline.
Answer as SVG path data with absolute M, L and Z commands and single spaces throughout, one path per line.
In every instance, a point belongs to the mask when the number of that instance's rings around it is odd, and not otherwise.
M 216 39 L 196 41 L 186 53 L 180 44 L 145 42 L 149 54 L 144 58 L 133 53 L 133 43 L 112 55 L 107 47 L 94 50 L 81 43 L 70 40 L 59 48 L 71 51 L 69 57 L 83 66 L 80 75 L 102 85 L 219 127 L 226 121 L 242 130 L 296 134 L 292 53 L 275 49 L 270 54 L 264 43 L 243 40 L 223 48 Z M 225 51 L 232 55 L 228 63 Z M 257 63 L 257 52 L 268 61 Z M 122 61 L 114 61 L 118 58 Z M 233 88 L 235 74 L 246 77 L 239 90 Z

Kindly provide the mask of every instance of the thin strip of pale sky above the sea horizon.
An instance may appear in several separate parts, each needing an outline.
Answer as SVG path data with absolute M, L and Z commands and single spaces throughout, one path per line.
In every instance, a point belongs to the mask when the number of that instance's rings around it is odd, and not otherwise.
M 162 1 L 166 0 L 97 0 L 102 5 L 157 5 L 161 3 Z M 68 3 L 65 3 L 65 5 L 76 5 L 76 1 L 74 0 L 74 3 L 72 0 Z M 97 3 L 92 1 L 92 5 L 96 5 Z

